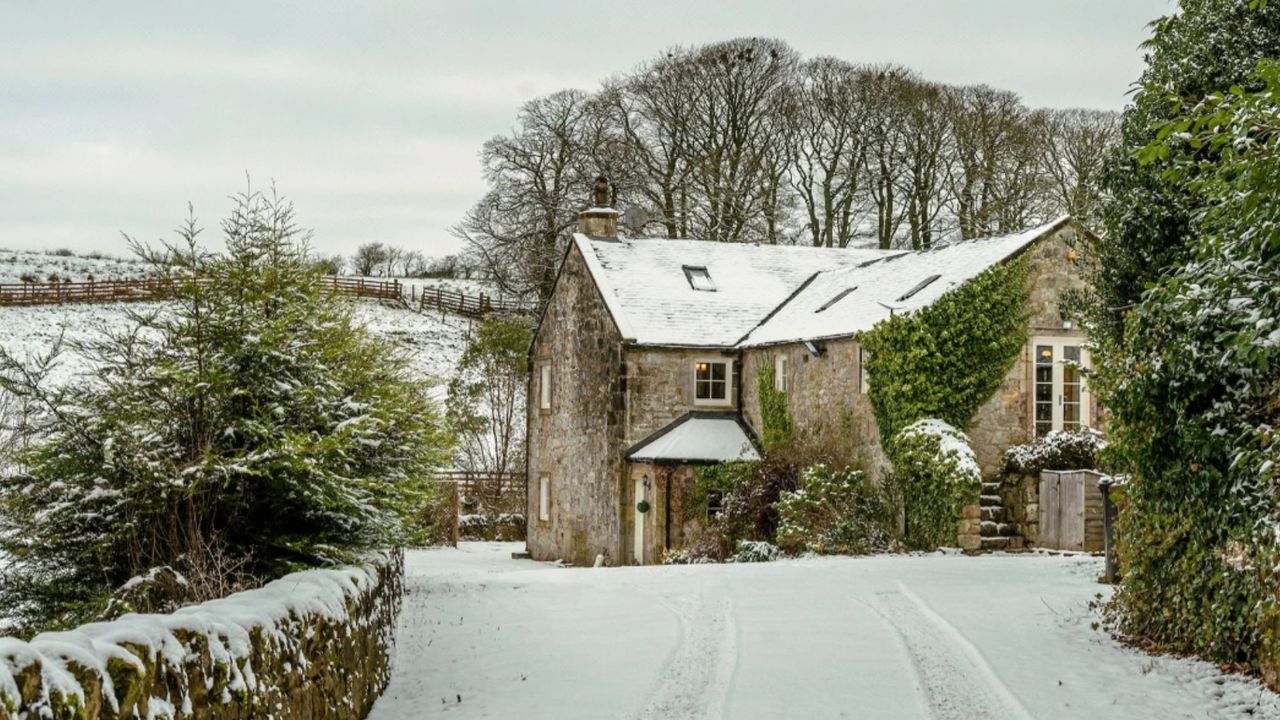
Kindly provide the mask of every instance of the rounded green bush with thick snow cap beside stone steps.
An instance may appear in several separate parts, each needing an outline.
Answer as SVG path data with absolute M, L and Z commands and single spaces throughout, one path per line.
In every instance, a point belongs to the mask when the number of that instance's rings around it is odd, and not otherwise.
M 893 465 L 891 483 L 906 510 L 906 543 L 934 550 L 956 542 L 956 519 L 964 505 L 978 502 L 982 471 L 969 438 L 936 418 L 916 420 L 886 448 Z

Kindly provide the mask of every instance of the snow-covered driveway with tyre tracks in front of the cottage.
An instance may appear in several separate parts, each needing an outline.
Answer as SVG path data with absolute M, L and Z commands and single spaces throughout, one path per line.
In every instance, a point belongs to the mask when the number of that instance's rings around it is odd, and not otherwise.
M 407 555 L 372 719 L 1280 717 L 1252 680 L 1093 630 L 1089 557 L 568 569 L 520 547 Z

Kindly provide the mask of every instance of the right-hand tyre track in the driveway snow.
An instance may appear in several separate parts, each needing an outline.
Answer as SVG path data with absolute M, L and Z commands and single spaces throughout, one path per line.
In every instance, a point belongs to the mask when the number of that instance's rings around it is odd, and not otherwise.
M 876 593 L 873 610 L 906 644 L 934 720 L 1033 720 L 978 648 L 901 580 Z

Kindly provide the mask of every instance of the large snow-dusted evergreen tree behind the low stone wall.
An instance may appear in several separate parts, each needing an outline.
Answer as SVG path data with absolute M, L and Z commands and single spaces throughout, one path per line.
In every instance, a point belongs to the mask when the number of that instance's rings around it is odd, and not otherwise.
M 77 347 L 92 377 L 0 352 L 37 411 L 0 459 L 0 615 L 65 626 L 155 566 L 252 584 L 419 533 L 449 451 L 430 386 L 328 290 L 287 202 L 246 192 L 223 231 L 224 254 L 195 220 L 137 247 L 177 292 Z

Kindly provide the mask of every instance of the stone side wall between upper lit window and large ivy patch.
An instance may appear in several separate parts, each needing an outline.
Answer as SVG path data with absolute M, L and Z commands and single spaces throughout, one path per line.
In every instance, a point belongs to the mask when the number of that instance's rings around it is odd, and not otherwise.
M 746 350 L 742 355 L 742 414 L 764 434 L 759 378 L 786 357 L 787 411 L 801 447 L 879 477 L 884 455 L 870 398 L 861 387 L 861 357 L 852 338 L 828 341 L 814 355 L 803 343 Z

